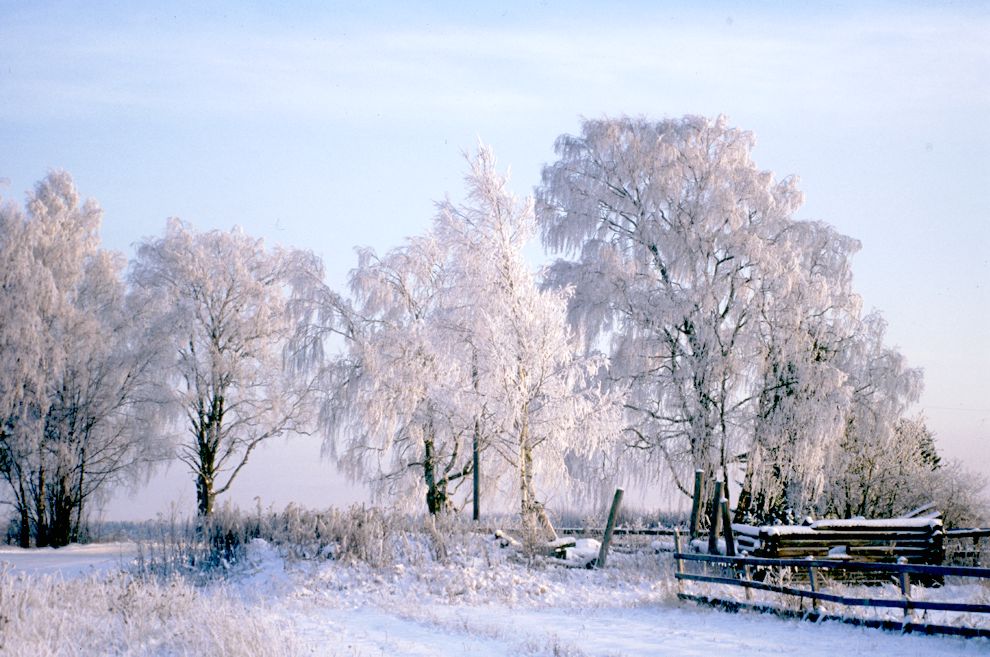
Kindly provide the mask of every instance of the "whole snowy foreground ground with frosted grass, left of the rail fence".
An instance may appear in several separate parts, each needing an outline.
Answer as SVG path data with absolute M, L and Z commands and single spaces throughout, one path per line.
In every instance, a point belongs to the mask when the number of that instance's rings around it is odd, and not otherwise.
M 446 560 L 372 567 L 285 560 L 256 540 L 224 585 L 112 570 L 114 548 L 4 548 L 3 655 L 768 657 L 980 655 L 990 642 L 897 635 L 682 605 L 666 564 L 616 554 L 609 568 L 527 564 L 491 541 Z M 119 550 L 119 546 L 117 548 Z M 60 556 L 62 555 L 62 556 Z M 36 567 L 44 557 L 44 567 Z M 65 567 L 58 570 L 59 562 Z M 91 570 L 96 570 L 91 568 Z M 53 577 L 58 572 L 67 579 Z

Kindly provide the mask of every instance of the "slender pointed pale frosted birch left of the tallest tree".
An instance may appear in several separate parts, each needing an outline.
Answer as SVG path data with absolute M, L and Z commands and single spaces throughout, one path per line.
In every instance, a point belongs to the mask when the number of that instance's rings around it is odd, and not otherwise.
M 442 203 L 435 231 L 453 250 L 484 434 L 532 524 L 545 520 L 540 498 L 571 483 L 567 459 L 600 449 L 617 426 L 594 382 L 604 363 L 581 354 L 567 325 L 568 293 L 541 290 L 524 257 L 533 200 L 509 191 L 491 149 L 479 147 L 469 164 L 465 202 Z

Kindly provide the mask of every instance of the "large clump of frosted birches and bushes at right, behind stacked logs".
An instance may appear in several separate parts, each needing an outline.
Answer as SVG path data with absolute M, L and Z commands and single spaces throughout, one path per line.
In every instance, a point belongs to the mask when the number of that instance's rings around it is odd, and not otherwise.
M 757 167 L 754 144 L 721 116 L 589 120 L 543 169 L 546 282 L 622 398 L 612 458 L 685 495 L 700 470 L 703 506 L 741 473 L 737 522 L 899 513 L 906 482 L 935 483 L 898 429 L 921 373 L 861 313 L 859 242 L 796 219 L 796 178 Z

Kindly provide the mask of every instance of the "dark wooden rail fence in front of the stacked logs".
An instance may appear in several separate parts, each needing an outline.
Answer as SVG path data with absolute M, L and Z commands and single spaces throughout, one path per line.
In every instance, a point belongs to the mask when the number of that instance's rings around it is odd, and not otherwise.
M 675 537 L 675 541 L 679 543 L 679 537 Z M 677 551 L 674 553 L 674 560 L 676 564 L 675 577 L 679 584 L 686 581 L 693 581 L 742 587 L 745 589 L 746 595 L 746 600 L 740 601 L 714 595 L 694 595 L 681 590 L 678 593 L 678 597 L 683 600 L 691 600 L 729 609 L 751 608 L 778 615 L 806 618 L 808 620 L 838 620 L 845 623 L 882 627 L 902 632 L 954 634 L 990 638 L 990 627 L 930 623 L 916 618 L 918 612 L 927 615 L 928 611 L 990 614 L 990 604 L 928 600 L 912 596 L 912 578 L 916 580 L 927 580 L 929 582 L 942 581 L 945 578 L 990 581 L 990 569 L 988 568 L 855 562 L 834 559 L 728 557 L 683 553 L 680 550 L 680 546 L 678 546 Z M 685 569 L 686 562 L 700 562 L 705 565 L 706 570 L 701 573 L 687 572 Z M 782 573 L 796 574 L 798 577 L 785 578 L 781 576 Z M 897 598 L 857 597 L 824 590 L 825 575 L 833 576 L 835 573 L 872 573 L 884 575 L 898 583 L 900 596 Z M 768 602 L 753 602 L 752 591 L 777 593 L 797 598 L 798 609 L 774 606 Z M 810 608 L 805 608 L 805 601 L 810 604 Z M 857 618 L 845 614 L 827 614 L 819 608 L 822 602 L 851 608 L 900 609 L 903 611 L 904 617 L 902 620 L 896 621 L 889 619 Z

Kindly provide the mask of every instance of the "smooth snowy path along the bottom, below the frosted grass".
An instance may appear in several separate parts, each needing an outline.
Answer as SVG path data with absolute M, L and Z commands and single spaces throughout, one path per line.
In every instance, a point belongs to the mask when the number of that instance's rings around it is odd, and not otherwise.
M 802 657 L 986 655 L 990 643 L 685 607 L 513 609 L 426 605 L 285 613 L 318 657 Z

